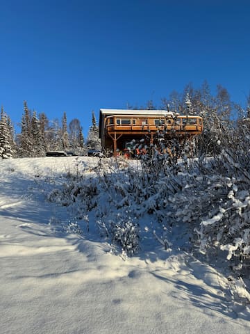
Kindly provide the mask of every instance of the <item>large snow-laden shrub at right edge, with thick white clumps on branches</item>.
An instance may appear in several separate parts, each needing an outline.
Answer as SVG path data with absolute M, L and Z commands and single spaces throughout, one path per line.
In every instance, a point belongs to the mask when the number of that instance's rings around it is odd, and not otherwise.
M 234 269 L 250 260 L 250 153 L 222 150 L 216 159 L 199 161 L 197 173 L 182 177 L 183 188 L 168 198 L 169 218 L 188 223 L 207 255 L 226 251 Z

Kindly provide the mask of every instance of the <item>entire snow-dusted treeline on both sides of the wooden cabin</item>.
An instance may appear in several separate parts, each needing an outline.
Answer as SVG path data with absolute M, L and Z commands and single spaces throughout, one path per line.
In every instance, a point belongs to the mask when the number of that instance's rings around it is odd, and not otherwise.
M 204 131 L 196 147 L 199 154 L 217 154 L 222 148 L 238 145 L 242 136 L 250 135 L 250 94 L 245 106 L 241 106 L 231 100 L 228 90 L 221 85 L 211 93 L 206 81 L 199 88 L 188 84 L 181 93 L 173 91 L 158 106 L 149 100 L 144 106 L 128 104 L 127 108 L 163 109 L 203 117 Z M 67 124 L 67 115 L 63 113 L 61 121 L 50 122 L 45 113 L 31 112 L 26 101 L 20 127 L 21 132 L 15 136 L 10 117 L 2 107 L 0 157 L 42 157 L 50 150 L 74 150 L 84 155 L 88 149 L 101 148 L 94 112 L 86 141 L 77 118 Z

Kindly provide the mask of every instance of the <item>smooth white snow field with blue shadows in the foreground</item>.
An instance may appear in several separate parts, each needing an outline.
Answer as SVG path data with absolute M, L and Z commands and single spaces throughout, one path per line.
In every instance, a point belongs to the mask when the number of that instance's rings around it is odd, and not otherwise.
M 248 303 L 192 255 L 160 244 L 114 254 L 92 216 L 90 233 L 56 231 L 53 220 L 69 213 L 47 202 L 36 173 L 56 180 L 74 161 L 0 160 L 1 334 L 250 333 Z

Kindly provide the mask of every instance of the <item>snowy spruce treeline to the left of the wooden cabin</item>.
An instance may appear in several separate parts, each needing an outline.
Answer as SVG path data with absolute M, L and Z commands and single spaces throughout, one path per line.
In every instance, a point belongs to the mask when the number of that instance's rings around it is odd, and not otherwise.
M 0 117 L 0 157 L 44 157 L 48 151 L 72 150 L 84 155 L 89 149 L 99 148 L 99 129 L 92 111 L 92 125 L 88 138 L 83 138 L 80 120 L 74 118 L 67 123 L 67 114 L 63 113 L 61 122 L 49 121 L 45 113 L 37 115 L 28 109 L 24 101 L 24 113 L 20 124 L 21 131 L 15 135 L 12 121 L 1 107 Z

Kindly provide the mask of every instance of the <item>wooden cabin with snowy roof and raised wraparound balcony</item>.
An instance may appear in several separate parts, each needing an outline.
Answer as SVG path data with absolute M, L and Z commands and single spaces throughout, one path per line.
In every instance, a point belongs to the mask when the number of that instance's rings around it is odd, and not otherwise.
M 153 143 L 156 133 L 165 131 L 167 136 L 201 134 L 203 122 L 200 116 L 183 116 L 165 110 L 100 109 L 99 138 L 105 150 L 114 155 L 126 148 L 132 140 L 147 139 Z

